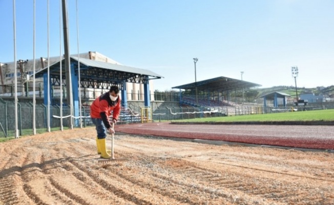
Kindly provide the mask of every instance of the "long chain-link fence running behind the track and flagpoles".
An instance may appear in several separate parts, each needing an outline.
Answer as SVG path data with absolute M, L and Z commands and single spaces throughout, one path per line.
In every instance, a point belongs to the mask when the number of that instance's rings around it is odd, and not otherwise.
M 334 109 L 333 103 L 318 104 L 314 106 L 296 107 L 263 107 L 263 106 L 236 106 L 236 107 L 157 107 L 152 110 L 152 121 L 170 121 L 179 119 L 208 118 L 234 115 L 266 114 L 279 112 L 311 111 Z M 0 137 L 15 136 L 15 104 L 13 101 L 4 101 L 0 98 Z M 76 111 L 76 115 L 79 111 Z M 68 106 L 62 107 L 62 116 L 69 116 Z M 60 106 L 50 106 L 50 128 L 60 130 Z M 93 126 L 90 117 L 90 107 L 81 108 L 82 127 Z M 140 107 L 122 108 L 119 116 L 119 124 L 138 123 L 140 120 Z M 19 135 L 33 134 L 33 105 L 32 103 L 17 104 L 17 119 Z M 35 124 L 38 133 L 47 132 L 48 129 L 48 109 L 44 104 L 37 104 L 35 107 Z M 79 118 L 63 118 L 62 126 L 70 127 L 70 120 L 73 120 L 75 127 L 80 127 Z M 130 120 L 129 120 L 130 119 Z

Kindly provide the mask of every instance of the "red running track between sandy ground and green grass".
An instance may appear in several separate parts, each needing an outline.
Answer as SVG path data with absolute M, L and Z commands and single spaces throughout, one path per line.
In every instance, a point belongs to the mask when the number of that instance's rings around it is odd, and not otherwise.
M 115 130 L 138 135 L 334 150 L 334 126 L 176 125 L 153 122 L 117 125 Z

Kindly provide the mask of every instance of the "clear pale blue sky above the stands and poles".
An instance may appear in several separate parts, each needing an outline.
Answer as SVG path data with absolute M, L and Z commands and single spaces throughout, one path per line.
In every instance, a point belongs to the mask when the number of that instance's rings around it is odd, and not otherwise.
M 33 58 L 33 0 L 16 0 L 16 56 Z M 69 0 L 70 52 L 78 53 Z M 0 62 L 14 60 L 13 1 L 0 0 Z M 226 76 L 262 85 L 334 85 L 332 0 L 78 0 L 79 52 L 96 51 L 162 76 L 170 90 Z M 59 55 L 59 1 L 50 0 L 50 56 Z M 62 44 L 62 43 L 61 43 Z M 63 44 L 62 44 L 62 47 Z M 36 57 L 47 57 L 47 1 L 36 0 Z

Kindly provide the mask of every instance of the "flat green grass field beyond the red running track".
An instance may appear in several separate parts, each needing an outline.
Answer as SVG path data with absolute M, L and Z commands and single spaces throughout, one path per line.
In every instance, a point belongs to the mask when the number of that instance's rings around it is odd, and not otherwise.
M 240 122 L 240 121 L 334 121 L 334 109 L 270 113 L 257 115 L 238 115 L 226 117 L 206 117 L 173 120 L 176 122 Z

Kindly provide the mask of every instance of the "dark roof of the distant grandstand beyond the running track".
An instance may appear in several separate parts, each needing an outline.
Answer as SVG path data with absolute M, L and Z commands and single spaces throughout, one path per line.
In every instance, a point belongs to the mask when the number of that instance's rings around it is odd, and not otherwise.
M 197 90 L 202 91 L 231 91 L 241 90 L 261 86 L 259 84 L 250 83 L 244 80 L 233 79 L 229 77 L 216 77 L 207 80 L 197 81 L 197 83 L 185 84 L 182 86 L 175 86 L 176 89 L 194 90 L 197 85 Z

